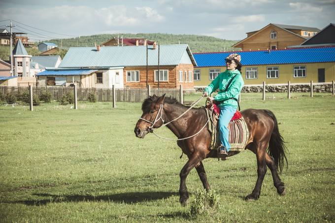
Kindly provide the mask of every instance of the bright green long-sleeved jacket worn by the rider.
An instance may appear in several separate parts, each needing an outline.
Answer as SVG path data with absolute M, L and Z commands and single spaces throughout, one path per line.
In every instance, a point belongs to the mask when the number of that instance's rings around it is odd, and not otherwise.
M 237 75 L 235 78 L 234 76 Z M 229 89 L 226 91 L 226 87 L 229 81 L 234 78 L 232 83 L 229 86 Z M 234 71 L 226 70 L 225 72 L 220 73 L 206 88 L 205 92 L 212 94 L 214 91 L 219 89 L 219 93 L 214 96 L 214 100 L 218 101 L 219 107 L 223 106 L 232 106 L 237 108 L 237 101 L 234 99 L 228 99 L 234 97 L 238 99 L 239 93 L 242 90 L 244 81 L 241 73 L 235 69 Z M 227 100 L 228 99 L 228 100 Z

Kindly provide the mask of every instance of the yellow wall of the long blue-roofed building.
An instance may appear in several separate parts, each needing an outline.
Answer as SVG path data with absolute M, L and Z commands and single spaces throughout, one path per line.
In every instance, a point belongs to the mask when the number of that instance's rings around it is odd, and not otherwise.
M 294 77 L 293 66 L 306 66 L 306 77 Z M 267 67 L 278 66 L 279 77 L 267 78 Z M 257 67 L 258 78 L 246 79 L 246 68 Z M 265 81 L 267 84 L 287 84 L 291 83 L 309 83 L 311 80 L 315 83 L 318 82 L 318 69 L 325 68 L 325 82 L 332 82 L 335 80 L 335 62 L 333 63 L 309 63 L 309 64 L 275 64 L 275 65 L 255 65 L 243 66 L 242 77 L 246 85 L 260 85 Z M 226 67 L 195 67 L 195 70 L 200 69 L 200 81 L 194 81 L 195 87 L 204 87 L 211 83 L 209 80 L 209 69 L 221 69 L 221 72 L 226 70 Z

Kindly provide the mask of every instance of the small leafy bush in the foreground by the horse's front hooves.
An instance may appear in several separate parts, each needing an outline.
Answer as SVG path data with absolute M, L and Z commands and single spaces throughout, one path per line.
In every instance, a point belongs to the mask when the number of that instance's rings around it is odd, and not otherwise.
M 214 190 L 196 191 L 195 198 L 191 203 L 190 216 L 197 217 L 207 214 L 213 216 L 219 212 L 220 196 Z

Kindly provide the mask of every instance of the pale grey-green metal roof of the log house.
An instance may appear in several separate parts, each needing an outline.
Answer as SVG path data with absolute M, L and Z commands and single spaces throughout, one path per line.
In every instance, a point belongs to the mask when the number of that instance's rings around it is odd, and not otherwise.
M 148 46 L 148 65 L 158 64 L 156 49 Z M 160 65 L 197 65 L 187 44 L 160 45 Z M 146 46 L 70 47 L 59 67 L 145 66 Z

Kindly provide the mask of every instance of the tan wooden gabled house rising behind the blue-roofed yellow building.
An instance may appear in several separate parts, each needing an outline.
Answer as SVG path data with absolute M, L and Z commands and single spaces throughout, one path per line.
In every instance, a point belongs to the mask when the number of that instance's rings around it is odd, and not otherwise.
M 300 45 L 320 30 L 312 27 L 268 24 L 258 31 L 247 32 L 247 37 L 233 47 L 247 50 L 275 50 Z

